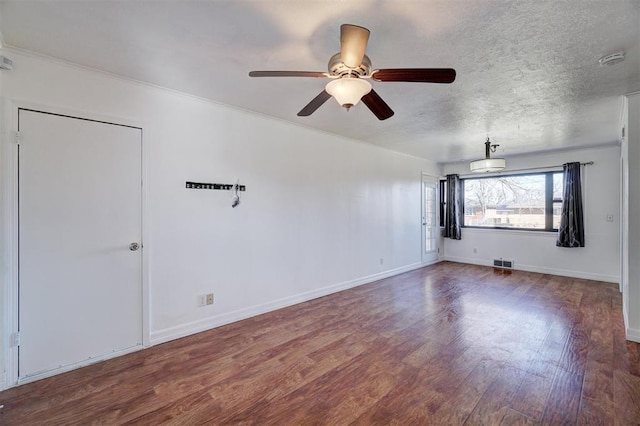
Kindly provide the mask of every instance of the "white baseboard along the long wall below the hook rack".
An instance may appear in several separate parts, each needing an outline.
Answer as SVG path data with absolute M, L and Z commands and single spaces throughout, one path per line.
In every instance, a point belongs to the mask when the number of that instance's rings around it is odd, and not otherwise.
M 227 312 L 225 314 L 214 315 L 209 318 L 204 318 L 198 321 L 192 321 L 186 324 L 180 324 L 175 327 L 165 328 L 163 330 L 152 331 L 150 343 L 151 345 L 165 343 L 174 339 L 179 339 L 181 337 L 199 333 L 201 331 L 210 330 L 215 327 L 220 327 L 226 324 L 230 324 L 232 322 L 254 317 L 256 315 L 275 311 L 277 309 L 286 308 L 287 306 L 306 302 L 312 299 L 317 299 L 318 297 L 327 296 L 329 294 L 337 293 L 342 290 L 347 290 L 353 287 L 369 284 L 384 278 L 392 277 L 394 275 L 402 274 L 404 272 L 412 271 L 414 269 L 419 269 L 419 268 L 422 268 L 423 266 L 425 265 L 423 265 L 422 263 L 413 263 L 400 268 L 383 271 L 377 274 L 368 275 L 366 277 L 357 278 L 355 280 L 333 284 L 327 287 L 319 288 L 319 289 L 308 291 L 305 293 L 300 293 L 294 296 L 285 297 L 283 299 L 274 300 L 261 305 L 255 305 L 255 306 L 251 306 L 244 309 L 238 309 L 236 311 Z

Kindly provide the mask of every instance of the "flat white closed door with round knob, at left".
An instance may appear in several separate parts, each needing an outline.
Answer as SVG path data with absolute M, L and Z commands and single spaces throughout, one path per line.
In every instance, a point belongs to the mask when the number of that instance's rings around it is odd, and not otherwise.
M 18 377 L 142 344 L 142 131 L 20 109 Z

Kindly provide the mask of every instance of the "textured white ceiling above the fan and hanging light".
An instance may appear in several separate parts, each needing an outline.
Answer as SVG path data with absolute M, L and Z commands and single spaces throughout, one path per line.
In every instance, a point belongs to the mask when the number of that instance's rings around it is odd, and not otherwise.
M 339 27 L 371 30 L 373 68 L 452 67 L 450 85 L 377 83 L 395 115 L 333 100 L 327 83 L 249 78 L 326 71 Z M 436 161 L 615 143 L 620 95 L 640 90 L 633 1 L 1 1 L 4 44 Z M 624 50 L 626 60 L 598 59 Z

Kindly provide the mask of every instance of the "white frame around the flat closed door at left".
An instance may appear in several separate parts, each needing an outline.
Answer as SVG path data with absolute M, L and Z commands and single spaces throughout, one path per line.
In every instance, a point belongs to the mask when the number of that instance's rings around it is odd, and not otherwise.
M 4 185 L 0 190 L 3 192 L 2 197 L 2 233 L 4 234 L 5 243 L 2 249 L 5 251 L 5 264 L 7 272 L 4 277 L 0 278 L 1 288 L 3 291 L 3 297 L 1 305 L 4 314 L 5 326 L 0 329 L 0 336 L 2 336 L 2 344 L 0 344 L 0 350 L 3 352 L 3 356 L 0 356 L 0 360 L 4 359 L 4 371 L 6 371 L 6 377 L 0 376 L 0 390 L 17 386 L 23 383 L 39 380 L 47 376 L 53 376 L 60 374 L 64 371 L 68 371 L 74 368 L 78 368 L 81 365 L 88 365 L 105 359 L 113 358 L 115 356 L 123 355 L 127 352 L 134 352 L 150 345 L 150 331 L 149 331 L 149 227 L 148 227 L 148 208 L 147 208 L 147 193 L 148 193 L 148 175 L 149 175 L 149 147 L 147 139 L 149 138 L 148 126 L 140 121 L 134 121 L 122 117 L 110 117 L 101 114 L 89 113 L 86 111 L 69 110 L 62 107 L 53 107 L 50 105 L 34 104 L 29 102 L 23 102 L 19 100 L 5 100 L 4 102 L 4 122 L 8 123 L 5 129 L 10 131 L 5 132 L 2 143 L 2 154 L 0 157 L 0 164 L 3 168 L 3 180 Z M 44 113 L 63 115 L 68 117 L 74 117 L 90 121 L 98 121 L 104 123 L 111 123 L 115 125 L 124 125 L 130 127 L 136 127 L 141 130 L 141 144 L 142 144 L 142 164 L 141 164 L 141 177 L 142 177 L 142 189 L 141 189 L 141 232 L 142 232 L 142 246 L 147 250 L 142 250 L 142 347 L 134 347 L 130 350 L 117 352 L 115 354 L 107 354 L 101 357 L 96 357 L 91 360 L 87 360 L 79 365 L 74 365 L 69 368 L 63 368 L 54 372 L 45 373 L 43 375 L 19 379 L 18 377 L 18 344 L 16 342 L 16 336 L 18 335 L 19 325 L 19 263 L 18 263 L 18 245 L 19 245 L 19 210 L 18 210 L 18 111 L 20 109 L 31 109 L 35 111 L 41 111 Z

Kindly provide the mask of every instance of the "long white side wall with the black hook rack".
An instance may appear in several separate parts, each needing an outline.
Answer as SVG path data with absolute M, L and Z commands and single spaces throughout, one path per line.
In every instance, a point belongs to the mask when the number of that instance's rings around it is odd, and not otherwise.
M 421 265 L 420 179 L 422 172 L 440 174 L 435 163 L 0 52 L 15 66 L 3 74 L 7 100 L 144 128 L 152 343 Z M 3 145 L 11 157 L 9 139 Z M 3 179 L 10 180 L 7 170 Z M 247 191 L 235 209 L 229 193 L 185 189 L 188 180 L 236 179 Z M 4 204 L 6 224 L 11 206 Z M 3 277 L 5 292 L 11 281 Z M 215 304 L 198 307 L 197 296 L 209 292 Z M 3 353 L 11 350 L 10 328 L 2 327 Z

